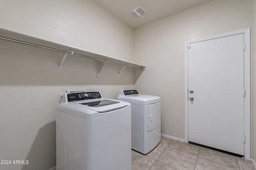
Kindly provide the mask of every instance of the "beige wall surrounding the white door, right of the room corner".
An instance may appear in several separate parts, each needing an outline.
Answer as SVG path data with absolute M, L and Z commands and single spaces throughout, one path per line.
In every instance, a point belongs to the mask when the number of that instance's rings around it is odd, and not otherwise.
M 252 27 L 253 2 L 212 0 L 135 30 L 135 62 L 147 66 L 135 88 L 162 97 L 163 134 L 184 139 L 184 42 Z M 252 31 L 255 37 L 255 28 Z M 254 66 L 255 54 L 251 58 Z M 255 136 L 254 129 L 252 133 Z M 253 142 L 255 145 L 255 137 Z

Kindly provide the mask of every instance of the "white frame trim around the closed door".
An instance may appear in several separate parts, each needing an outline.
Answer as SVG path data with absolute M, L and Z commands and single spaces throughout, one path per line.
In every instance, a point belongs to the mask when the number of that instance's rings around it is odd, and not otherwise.
M 244 135 L 246 136 L 246 142 L 244 143 L 244 158 L 251 160 L 250 158 L 250 28 L 240 29 L 218 35 L 212 35 L 200 39 L 191 41 L 185 41 L 185 88 L 184 88 L 184 104 L 185 104 L 185 143 L 188 143 L 188 48 L 191 43 L 198 43 L 202 41 L 208 41 L 216 38 L 222 38 L 232 35 L 244 34 Z

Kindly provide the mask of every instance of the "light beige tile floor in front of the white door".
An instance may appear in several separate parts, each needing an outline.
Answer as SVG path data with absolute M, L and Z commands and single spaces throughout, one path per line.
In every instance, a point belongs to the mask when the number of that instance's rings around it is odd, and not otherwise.
M 251 161 L 161 137 L 148 154 L 132 150 L 132 170 L 255 170 Z

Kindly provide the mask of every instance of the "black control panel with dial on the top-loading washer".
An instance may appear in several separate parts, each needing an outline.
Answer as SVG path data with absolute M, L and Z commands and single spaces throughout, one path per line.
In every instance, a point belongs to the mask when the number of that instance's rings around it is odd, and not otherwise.
M 91 100 L 102 98 L 100 92 L 79 92 L 79 93 L 68 93 L 68 102 L 80 101 L 80 100 Z

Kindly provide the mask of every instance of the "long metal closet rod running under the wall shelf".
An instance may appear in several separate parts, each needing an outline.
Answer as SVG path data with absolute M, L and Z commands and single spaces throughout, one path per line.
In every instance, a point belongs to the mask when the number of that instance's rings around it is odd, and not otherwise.
M 63 51 L 63 50 L 59 50 L 59 49 L 54 49 L 54 48 L 45 47 L 45 46 L 42 46 L 42 45 L 27 43 L 27 42 L 24 42 L 24 41 L 19 41 L 19 40 L 16 40 L 16 39 L 10 39 L 10 38 L 6 38 L 6 37 L 0 37 L 0 39 L 7 40 L 7 41 L 12 41 L 12 42 L 15 42 L 15 43 L 26 44 L 26 45 L 30 45 L 30 46 L 34 46 L 34 47 L 39 47 L 39 48 L 42 48 L 42 49 L 48 49 L 48 50 L 52 50 L 52 51 L 58 51 L 58 52 L 61 52 L 61 53 L 67 53 L 67 54 L 71 54 L 71 55 L 76 55 L 76 56 L 80 56 L 80 57 L 86 57 L 86 58 L 89 58 L 89 59 L 94 59 L 94 60 L 98 60 L 98 61 L 103 61 L 103 62 L 106 62 L 106 63 L 118 64 L 118 65 L 122 65 L 122 66 L 127 66 L 127 67 L 132 67 L 132 68 L 136 68 L 136 69 L 143 70 L 142 67 L 141 67 L 141 68 L 138 68 L 138 67 L 131 66 L 130 64 L 120 64 L 120 63 L 116 63 L 116 62 L 113 62 L 113 61 L 107 61 L 107 60 L 97 59 L 97 58 L 90 57 L 90 56 L 87 56 L 87 55 L 76 54 L 76 53 L 74 53 L 73 51 L 71 51 L 71 52 L 69 52 L 69 51 Z

